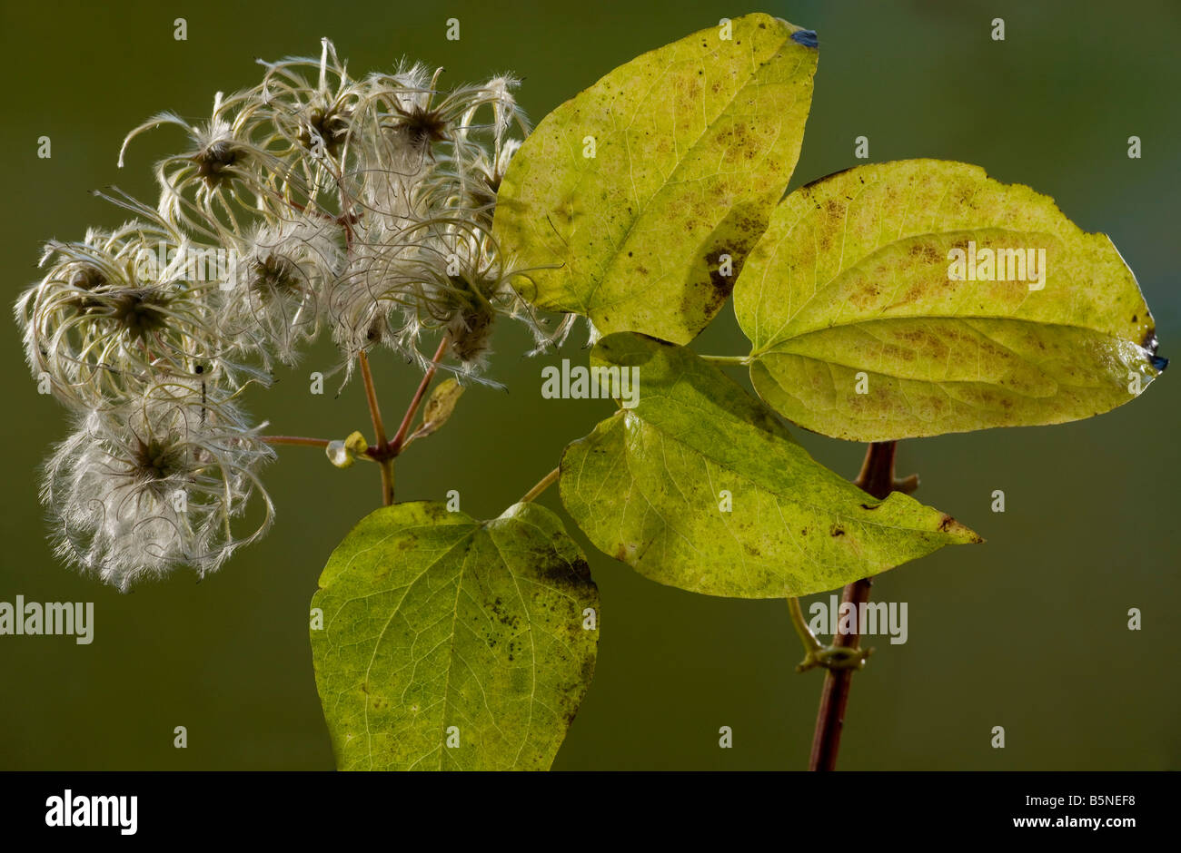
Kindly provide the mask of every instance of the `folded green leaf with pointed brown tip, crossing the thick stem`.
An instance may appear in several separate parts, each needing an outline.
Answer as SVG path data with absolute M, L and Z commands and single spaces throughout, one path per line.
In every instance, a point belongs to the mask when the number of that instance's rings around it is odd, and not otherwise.
M 803 596 L 980 540 L 913 498 L 872 498 L 823 467 L 685 347 L 621 333 L 600 340 L 593 360 L 634 370 L 639 402 L 566 448 L 562 503 L 596 547 L 653 580 Z

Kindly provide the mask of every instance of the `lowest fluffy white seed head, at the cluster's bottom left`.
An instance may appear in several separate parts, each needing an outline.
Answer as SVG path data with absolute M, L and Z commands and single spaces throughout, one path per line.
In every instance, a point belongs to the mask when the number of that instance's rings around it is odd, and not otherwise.
M 202 402 L 196 387 L 91 411 L 45 470 L 57 552 L 120 590 L 180 566 L 203 577 L 269 527 L 257 470 L 270 458 L 231 402 Z M 252 499 L 261 520 L 244 521 Z

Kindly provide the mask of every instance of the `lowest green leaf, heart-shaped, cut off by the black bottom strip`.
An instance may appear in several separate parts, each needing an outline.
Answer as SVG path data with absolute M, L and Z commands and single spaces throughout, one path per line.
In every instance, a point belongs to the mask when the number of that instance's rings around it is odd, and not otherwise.
M 312 606 L 341 769 L 546 769 L 594 672 L 583 611 L 598 590 L 533 504 L 491 521 L 443 504 L 377 510 L 333 551 Z

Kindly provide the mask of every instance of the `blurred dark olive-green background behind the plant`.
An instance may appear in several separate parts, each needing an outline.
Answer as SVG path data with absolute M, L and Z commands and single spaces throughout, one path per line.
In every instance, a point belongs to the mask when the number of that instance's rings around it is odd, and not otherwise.
M 874 162 L 968 160 L 1030 184 L 1111 236 L 1155 311 L 1161 354 L 1177 355 L 1177 4 L 761 8 L 820 33 L 794 186 L 854 165 L 857 136 L 869 137 Z M 6 2 L 5 298 L 37 278 L 40 241 L 122 221 L 87 189 L 117 183 L 155 198 L 150 166 L 182 139 L 169 130 L 141 138 L 119 171 L 126 130 L 165 109 L 208 118 L 215 91 L 257 79 L 256 57 L 318 54 L 328 35 L 357 73 L 402 55 L 445 65 L 452 83 L 510 70 L 524 78 L 521 99 L 536 122 L 633 55 L 749 11 L 696 0 Z M 188 20 L 187 41 L 172 38 L 177 17 Z M 444 39 L 452 17 L 458 42 Z M 990 38 L 993 18 L 1005 19 L 1003 42 Z M 43 134 L 51 159 L 37 158 Z M 1127 157 L 1133 134 L 1143 140 L 1138 160 Z M 463 510 L 488 517 L 524 493 L 609 411 L 540 396 L 542 363 L 581 357 L 578 337 L 555 357 L 527 361 L 516 355 L 520 332 L 500 329 L 492 363 L 508 393 L 470 391 L 457 419 L 399 461 L 399 498 L 457 488 Z M 50 552 L 38 466 L 66 422 L 38 396 L 11 322 L 0 340 L 0 601 L 96 603 L 92 645 L 0 637 L 0 768 L 331 768 L 308 599 L 332 547 L 376 507 L 374 470 L 337 471 L 319 451 L 281 448 L 266 472 L 279 505 L 266 540 L 200 584 L 178 573 L 119 595 Z M 726 308 L 698 349 L 737 354 L 743 345 Z M 359 385 L 338 399 L 307 393 L 307 374 L 334 360 L 331 347 L 314 349 L 250 399 L 253 413 L 280 433 L 367 432 Z M 416 376 L 383 356 L 376 378 L 386 411 L 400 411 Z M 909 641 L 873 643 L 877 654 L 853 688 L 842 768 L 1181 768 L 1177 379 L 1169 372 L 1142 399 L 1084 422 L 902 444 L 899 471 L 921 474 L 918 497 L 988 542 L 877 582 L 876 599 L 909 603 Z M 801 438 L 836 471 L 856 473 L 863 447 Z M 990 511 L 996 488 L 1004 514 Z M 560 510 L 555 492 L 541 500 Z M 801 651 L 784 603 L 660 586 L 575 537 L 602 593 L 601 642 L 555 767 L 803 767 L 821 676 L 795 674 Z M 1131 606 L 1143 611 L 1138 632 L 1127 629 Z M 176 726 L 188 728 L 187 749 L 172 747 Z M 733 729 L 732 749 L 718 748 L 720 726 Z M 993 726 L 1005 727 L 1005 749 L 990 747 Z

